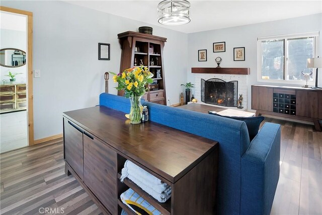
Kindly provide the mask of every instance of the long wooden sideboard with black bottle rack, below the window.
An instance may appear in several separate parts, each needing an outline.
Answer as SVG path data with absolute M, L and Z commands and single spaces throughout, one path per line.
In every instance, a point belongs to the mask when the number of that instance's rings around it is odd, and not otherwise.
M 252 109 L 256 115 L 270 114 L 312 121 L 321 131 L 322 90 L 301 87 L 252 86 Z

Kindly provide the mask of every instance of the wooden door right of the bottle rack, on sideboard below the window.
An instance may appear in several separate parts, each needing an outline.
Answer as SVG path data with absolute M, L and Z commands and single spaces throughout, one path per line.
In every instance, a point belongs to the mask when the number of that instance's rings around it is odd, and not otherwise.
M 318 98 L 318 96 L 320 98 Z M 318 107 L 321 94 L 318 91 L 296 91 L 296 115 L 318 119 L 322 107 Z

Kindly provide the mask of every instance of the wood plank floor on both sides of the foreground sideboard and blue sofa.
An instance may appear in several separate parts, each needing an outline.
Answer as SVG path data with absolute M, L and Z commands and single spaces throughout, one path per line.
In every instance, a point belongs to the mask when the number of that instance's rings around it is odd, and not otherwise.
M 312 125 L 266 117 L 282 125 L 281 172 L 271 214 L 322 214 L 322 132 Z M 100 214 L 79 183 L 64 174 L 62 141 L 0 155 L 1 214 Z

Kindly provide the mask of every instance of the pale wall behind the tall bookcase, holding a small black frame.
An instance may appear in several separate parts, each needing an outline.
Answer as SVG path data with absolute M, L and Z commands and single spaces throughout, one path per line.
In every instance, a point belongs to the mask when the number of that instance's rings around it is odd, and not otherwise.
M 104 73 L 120 68 L 117 34 L 148 24 L 60 1 L 2 1 L 2 6 L 33 12 L 35 139 L 62 133 L 62 112 L 98 104 L 105 91 Z M 148 25 L 151 26 L 151 25 Z M 153 27 L 167 37 L 164 49 L 167 99 L 179 103 L 187 80 L 187 34 Z M 111 44 L 111 60 L 98 60 L 98 43 Z M 179 47 L 179 48 L 178 48 Z M 110 79 L 109 92 L 116 94 Z

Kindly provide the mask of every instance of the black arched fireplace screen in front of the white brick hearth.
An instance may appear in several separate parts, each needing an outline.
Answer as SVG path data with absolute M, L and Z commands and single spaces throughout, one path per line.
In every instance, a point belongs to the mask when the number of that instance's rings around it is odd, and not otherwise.
M 238 81 L 201 79 L 201 101 L 226 107 L 237 107 Z

